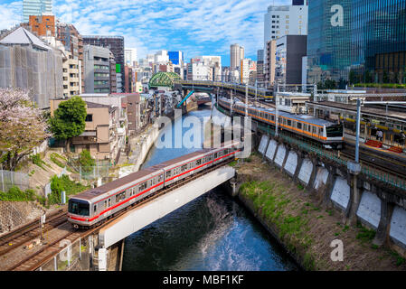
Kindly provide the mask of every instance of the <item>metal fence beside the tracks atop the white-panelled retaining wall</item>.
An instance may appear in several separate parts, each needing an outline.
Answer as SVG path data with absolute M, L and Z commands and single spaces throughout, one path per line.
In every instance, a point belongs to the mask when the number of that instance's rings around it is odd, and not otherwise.
M 262 126 L 259 124 L 258 127 L 263 132 L 267 132 L 269 135 L 275 136 L 275 130 L 269 128 L 269 126 Z M 347 165 L 346 160 L 339 158 L 333 152 L 327 151 L 322 147 L 322 145 L 317 146 L 316 144 L 308 143 L 304 140 L 297 139 L 286 132 L 280 132 L 279 136 L 282 137 L 289 144 L 296 144 L 299 148 L 301 148 L 304 151 L 317 154 L 320 157 L 326 157 L 327 159 L 344 166 Z M 406 190 L 406 180 L 404 179 L 401 179 L 387 172 L 382 172 L 377 169 L 373 169 L 371 166 L 365 165 L 363 163 L 361 164 L 361 168 L 364 175 L 374 180 L 388 183 L 393 187 L 399 188 L 401 190 Z

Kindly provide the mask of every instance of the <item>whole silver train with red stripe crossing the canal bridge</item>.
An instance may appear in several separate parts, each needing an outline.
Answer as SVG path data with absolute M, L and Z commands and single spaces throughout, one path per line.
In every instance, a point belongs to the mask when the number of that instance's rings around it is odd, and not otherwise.
M 240 141 L 227 142 L 220 148 L 186 154 L 84 191 L 68 201 L 68 221 L 74 228 L 101 225 L 119 211 L 146 200 L 157 191 L 171 187 L 197 172 L 238 158 L 242 147 Z

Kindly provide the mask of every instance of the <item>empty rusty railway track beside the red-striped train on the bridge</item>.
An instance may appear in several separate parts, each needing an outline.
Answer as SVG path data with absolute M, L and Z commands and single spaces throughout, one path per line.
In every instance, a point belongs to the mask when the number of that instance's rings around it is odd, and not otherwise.
M 191 177 L 189 177 L 187 179 L 184 179 L 182 181 L 172 184 L 168 188 L 165 188 L 161 191 L 156 191 L 155 194 L 148 196 L 148 198 L 146 198 L 144 200 L 140 200 L 137 203 L 134 203 L 133 205 L 128 206 L 126 209 L 119 211 L 114 216 L 112 216 L 110 219 L 107 219 L 103 223 L 99 224 L 98 227 L 89 228 L 89 229 L 76 229 L 76 228 L 71 227 L 71 225 L 70 225 L 69 229 L 65 228 L 66 232 L 64 234 L 61 234 L 61 236 L 59 238 L 52 240 L 52 242 L 50 242 L 50 243 L 43 244 L 42 245 L 43 247 L 40 250 L 33 252 L 33 254 L 31 254 L 29 256 L 25 256 L 22 260 L 20 260 L 13 266 L 9 266 L 6 269 L 6 271 L 34 271 L 34 270 L 38 269 L 39 267 L 41 267 L 42 265 L 49 262 L 50 260 L 52 260 L 52 258 L 55 255 L 57 255 L 59 252 L 61 252 L 61 249 L 63 248 L 63 247 L 61 247 L 61 244 L 62 244 L 61 242 L 63 240 L 69 240 L 71 243 L 73 243 L 73 242 L 77 241 L 79 238 L 86 238 L 92 234 L 95 234 L 95 233 L 99 232 L 100 228 L 103 228 L 104 226 L 109 225 L 111 222 L 115 221 L 116 219 L 118 219 L 119 217 L 121 217 L 122 215 L 127 213 L 127 211 L 134 210 L 137 207 L 142 206 L 151 200 L 155 200 L 156 198 L 159 198 L 159 197 L 165 195 L 165 193 L 167 193 L 169 191 L 173 191 L 179 187 L 182 187 L 182 186 L 184 186 L 184 184 L 186 184 L 188 182 L 192 182 L 192 181 L 202 177 L 206 173 L 212 172 L 214 170 L 221 168 L 224 165 L 227 165 L 228 163 L 231 163 L 233 160 L 234 159 L 231 159 L 225 163 L 220 163 L 207 170 L 204 170 L 203 172 L 197 172 L 196 174 L 192 175 Z M 68 223 L 67 217 L 65 217 L 64 222 Z M 65 243 L 63 243 L 63 244 L 65 244 Z

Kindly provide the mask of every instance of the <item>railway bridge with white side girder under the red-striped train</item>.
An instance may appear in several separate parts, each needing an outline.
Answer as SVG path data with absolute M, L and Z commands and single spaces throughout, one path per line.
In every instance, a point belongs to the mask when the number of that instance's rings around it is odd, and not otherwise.
M 98 228 L 75 229 L 66 208 L 0 238 L 0 270 L 65 271 L 120 270 L 124 239 L 157 219 L 181 208 L 235 176 L 235 170 L 218 164 L 157 191 L 128 207 Z

